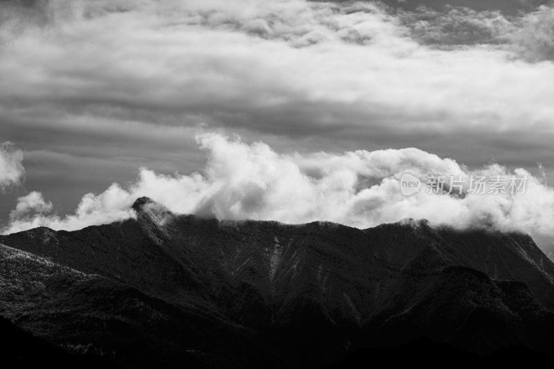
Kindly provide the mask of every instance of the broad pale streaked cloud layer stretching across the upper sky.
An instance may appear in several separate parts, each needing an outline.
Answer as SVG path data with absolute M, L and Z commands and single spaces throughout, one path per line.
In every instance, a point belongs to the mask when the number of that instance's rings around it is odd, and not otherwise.
M 33 150 L 62 141 L 77 154 L 66 143 L 87 132 L 80 147 L 93 155 L 106 137 L 111 150 L 138 155 L 125 139 L 146 130 L 137 125 L 170 139 L 175 126 L 205 122 L 358 146 L 440 136 L 466 162 L 452 137 L 467 135 L 499 159 L 510 155 L 500 141 L 528 143 L 518 155 L 528 165 L 549 159 L 530 148 L 551 135 L 554 64 L 514 60 L 506 33 L 519 23 L 498 12 L 301 0 L 39 4 L 25 17 L 7 12 L 11 22 L 0 27 L 0 75 L 10 87 L 0 87 L 0 134 Z M 430 45 L 441 43 L 456 47 Z M 45 131 L 48 147 L 28 129 Z M 440 141 L 425 149 L 438 152 Z M 163 139 L 155 144 L 163 150 Z

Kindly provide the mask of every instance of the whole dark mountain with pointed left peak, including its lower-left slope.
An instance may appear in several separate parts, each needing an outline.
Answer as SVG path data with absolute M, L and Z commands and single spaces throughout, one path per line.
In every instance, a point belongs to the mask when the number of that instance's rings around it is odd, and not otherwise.
M 551 355 L 554 264 L 528 235 L 133 208 L 124 222 L 0 236 L 0 314 L 128 368 L 346 368 L 421 346 Z

